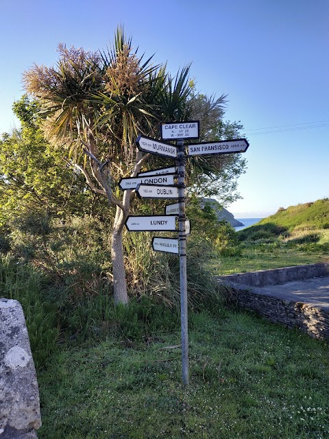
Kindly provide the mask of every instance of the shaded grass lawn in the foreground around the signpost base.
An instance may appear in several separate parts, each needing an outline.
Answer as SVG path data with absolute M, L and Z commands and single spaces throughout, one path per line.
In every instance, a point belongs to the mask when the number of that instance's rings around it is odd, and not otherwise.
M 188 388 L 179 327 L 62 348 L 38 373 L 39 438 L 329 437 L 324 342 L 226 309 L 191 313 L 189 341 Z

